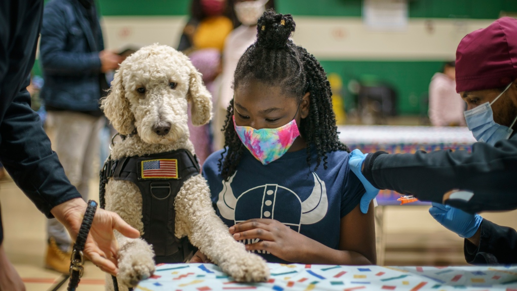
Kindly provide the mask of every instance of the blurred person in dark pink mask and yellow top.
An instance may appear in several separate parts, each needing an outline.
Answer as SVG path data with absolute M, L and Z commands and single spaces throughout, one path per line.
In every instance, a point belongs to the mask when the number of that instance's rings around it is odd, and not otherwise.
M 239 25 L 228 0 L 192 0 L 190 20 L 183 30 L 178 51 L 215 48 L 222 52 L 224 40 Z

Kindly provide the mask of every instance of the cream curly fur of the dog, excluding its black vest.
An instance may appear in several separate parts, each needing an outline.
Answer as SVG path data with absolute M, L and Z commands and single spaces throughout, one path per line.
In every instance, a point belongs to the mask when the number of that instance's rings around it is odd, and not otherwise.
M 170 83 L 176 83 L 171 88 Z M 145 92 L 139 92 L 145 88 Z M 142 91 L 142 89 L 140 89 Z M 110 94 L 102 100 L 104 114 L 123 135 L 137 129 L 114 145 L 111 158 L 146 155 L 187 149 L 194 153 L 187 126 L 187 103 L 192 103 L 192 123 L 206 124 L 211 118 L 211 96 L 201 74 L 183 53 L 166 45 L 150 45 L 129 56 L 115 73 Z M 156 126 L 170 125 L 165 135 Z M 106 209 L 116 212 L 143 233 L 142 196 L 136 185 L 110 179 L 106 185 Z M 175 199 L 175 235 L 188 236 L 221 269 L 237 281 L 265 281 L 265 261 L 235 241 L 217 217 L 210 190 L 201 175 L 188 179 Z M 127 290 L 155 271 L 154 252 L 142 238 L 130 239 L 116 233 L 119 243 L 117 275 L 119 290 Z M 113 290 L 110 276 L 106 287 Z

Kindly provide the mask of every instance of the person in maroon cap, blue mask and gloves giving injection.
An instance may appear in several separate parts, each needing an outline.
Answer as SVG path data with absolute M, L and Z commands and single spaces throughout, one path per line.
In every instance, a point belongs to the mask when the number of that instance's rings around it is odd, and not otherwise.
M 458 45 L 456 91 L 467 103 L 465 120 L 478 141 L 472 153 L 352 152 L 349 165 L 367 189 L 363 213 L 377 189 L 432 201 L 430 214 L 465 238 L 468 263 L 517 263 L 517 232 L 475 214 L 517 208 L 516 34 L 517 20 L 504 17 Z

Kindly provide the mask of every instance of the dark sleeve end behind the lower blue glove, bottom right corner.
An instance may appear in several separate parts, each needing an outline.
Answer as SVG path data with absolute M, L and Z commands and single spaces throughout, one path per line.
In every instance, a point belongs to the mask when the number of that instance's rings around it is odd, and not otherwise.
M 463 251 L 465 260 L 473 265 L 494 265 L 517 263 L 517 232 L 483 219 L 481 236 L 476 247 L 465 239 Z

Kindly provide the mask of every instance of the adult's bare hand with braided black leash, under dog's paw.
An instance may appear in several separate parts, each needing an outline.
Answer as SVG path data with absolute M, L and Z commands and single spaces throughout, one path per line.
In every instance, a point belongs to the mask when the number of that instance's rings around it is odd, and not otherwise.
M 75 240 L 81 228 L 86 206 L 86 202 L 81 198 L 75 198 L 55 206 L 50 212 L 65 225 L 70 237 Z M 114 230 L 129 238 L 140 236 L 138 230 L 132 228 L 116 213 L 97 209 L 83 250 L 83 254 L 90 261 L 112 275 L 118 272 L 116 257 L 118 244 Z

